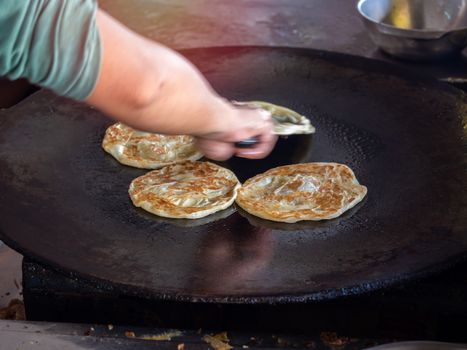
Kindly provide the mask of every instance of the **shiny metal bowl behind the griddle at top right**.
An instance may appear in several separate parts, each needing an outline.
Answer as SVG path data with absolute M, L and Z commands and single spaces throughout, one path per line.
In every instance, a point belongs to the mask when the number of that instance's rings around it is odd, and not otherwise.
M 404 59 L 429 60 L 467 46 L 467 0 L 359 0 L 373 42 Z

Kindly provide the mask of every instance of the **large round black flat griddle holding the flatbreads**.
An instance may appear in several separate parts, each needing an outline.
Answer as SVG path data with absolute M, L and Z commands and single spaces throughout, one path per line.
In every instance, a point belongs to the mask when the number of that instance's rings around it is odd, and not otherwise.
M 111 121 L 41 91 L 0 115 L 1 238 L 101 288 L 146 298 L 300 302 L 357 294 L 439 270 L 467 251 L 467 99 L 387 63 L 291 48 L 184 51 L 219 93 L 308 115 L 313 137 L 265 160 L 348 164 L 366 200 L 325 222 L 281 225 L 241 211 L 170 220 L 134 208 L 145 171 L 100 148 Z M 235 212 L 234 212 L 235 211 Z

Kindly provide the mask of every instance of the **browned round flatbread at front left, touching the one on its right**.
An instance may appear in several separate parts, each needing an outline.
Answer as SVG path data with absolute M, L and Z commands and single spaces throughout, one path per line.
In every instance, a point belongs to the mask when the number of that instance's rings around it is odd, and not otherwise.
M 168 218 L 198 219 L 232 205 L 240 183 L 233 172 L 209 162 L 167 165 L 134 179 L 133 204 Z

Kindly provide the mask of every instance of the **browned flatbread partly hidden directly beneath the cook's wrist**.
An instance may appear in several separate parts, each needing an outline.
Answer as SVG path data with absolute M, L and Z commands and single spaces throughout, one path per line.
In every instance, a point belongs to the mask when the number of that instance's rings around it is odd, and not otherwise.
M 107 129 L 102 147 L 120 163 L 143 169 L 158 169 L 203 156 L 191 136 L 142 132 L 122 123 Z

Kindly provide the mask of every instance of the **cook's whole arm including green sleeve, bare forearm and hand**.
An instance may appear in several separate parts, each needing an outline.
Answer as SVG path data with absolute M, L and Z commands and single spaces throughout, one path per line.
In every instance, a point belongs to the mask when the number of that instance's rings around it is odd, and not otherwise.
M 85 100 L 138 129 L 191 134 L 214 159 L 259 158 L 273 147 L 270 118 L 238 110 L 174 51 L 143 38 L 93 0 L 0 0 L 0 75 Z M 253 150 L 233 142 L 260 136 Z

